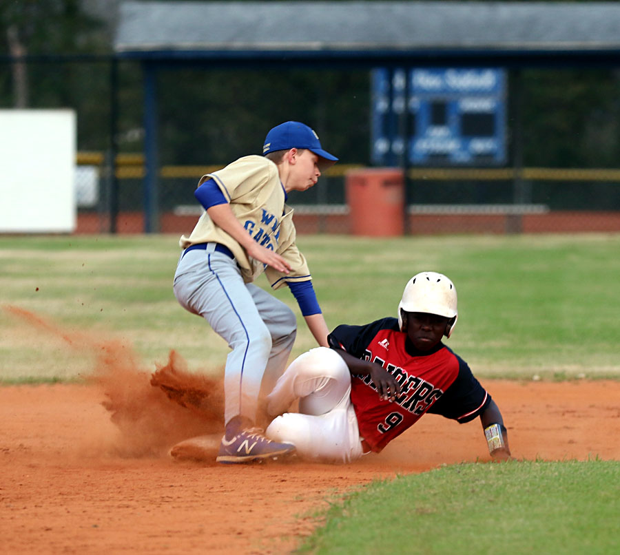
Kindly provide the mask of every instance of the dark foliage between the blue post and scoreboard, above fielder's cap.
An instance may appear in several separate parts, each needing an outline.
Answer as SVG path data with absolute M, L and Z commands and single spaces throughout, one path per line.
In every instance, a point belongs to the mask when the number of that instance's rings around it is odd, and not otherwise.
M 289 120 L 316 129 L 347 161 L 369 161 L 366 71 L 169 70 L 158 86 L 163 164 L 261 154 L 267 131 Z

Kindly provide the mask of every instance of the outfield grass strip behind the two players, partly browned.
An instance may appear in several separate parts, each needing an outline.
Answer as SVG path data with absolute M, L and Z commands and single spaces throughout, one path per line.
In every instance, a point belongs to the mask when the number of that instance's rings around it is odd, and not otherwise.
M 172 295 L 176 236 L 0 238 L 1 304 L 68 331 L 118 338 L 145 368 L 176 349 L 190 370 L 228 347 Z M 451 277 L 459 320 L 448 344 L 480 377 L 620 376 L 619 235 L 395 238 L 300 236 L 330 328 L 395 315 L 409 277 Z M 260 286 L 267 287 L 261 278 Z M 287 289 L 275 292 L 299 313 Z M 313 346 L 301 317 L 293 355 Z M 0 380 L 72 379 L 85 362 L 4 311 Z

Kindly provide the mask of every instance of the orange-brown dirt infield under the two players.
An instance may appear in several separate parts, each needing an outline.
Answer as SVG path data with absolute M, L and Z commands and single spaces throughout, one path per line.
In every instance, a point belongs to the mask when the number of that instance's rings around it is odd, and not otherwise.
M 136 383 L 116 384 L 126 403 Z M 517 458 L 620 460 L 620 382 L 483 385 Z M 351 465 L 178 462 L 165 443 L 193 432 L 192 417 L 171 432 L 170 401 L 159 397 L 135 395 L 154 410 L 119 428 L 101 383 L 0 388 L 0 552 L 283 554 L 320 523 L 316 510 L 349 488 L 488 461 L 478 421 L 427 415 L 382 454 Z

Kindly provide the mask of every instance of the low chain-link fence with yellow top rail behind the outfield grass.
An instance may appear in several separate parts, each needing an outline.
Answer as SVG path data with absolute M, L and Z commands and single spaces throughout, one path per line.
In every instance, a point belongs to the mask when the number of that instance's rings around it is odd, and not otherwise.
M 116 213 L 110 210 L 114 181 L 109 165 L 103 154 L 78 155 L 76 233 L 143 233 L 142 156 L 119 155 L 116 160 Z M 155 229 L 192 231 L 202 211 L 193 194 L 198 179 L 220 167 L 162 167 Z M 351 232 L 347 174 L 360 168 L 364 166 L 335 165 L 312 189 L 289 195 L 298 233 Z M 407 232 L 414 235 L 620 231 L 620 169 L 417 168 L 407 176 L 404 218 Z

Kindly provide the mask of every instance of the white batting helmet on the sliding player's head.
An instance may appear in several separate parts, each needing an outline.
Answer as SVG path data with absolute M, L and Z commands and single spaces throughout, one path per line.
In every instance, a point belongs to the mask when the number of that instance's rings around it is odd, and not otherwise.
M 401 310 L 454 318 L 453 324 L 446 327 L 445 335 L 450 337 L 458 317 L 455 286 L 442 273 L 417 273 L 406 284 L 398 304 L 398 326 L 402 331 Z

